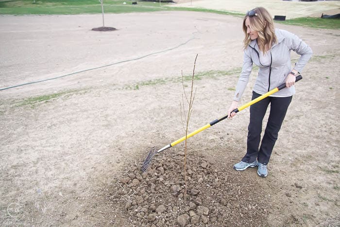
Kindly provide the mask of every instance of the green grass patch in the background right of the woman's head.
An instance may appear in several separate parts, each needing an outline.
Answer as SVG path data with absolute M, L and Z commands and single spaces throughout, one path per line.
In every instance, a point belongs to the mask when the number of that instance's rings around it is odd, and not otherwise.
M 297 25 L 311 28 L 340 29 L 340 19 L 325 19 L 320 17 L 299 17 L 284 21 L 277 21 L 282 24 Z

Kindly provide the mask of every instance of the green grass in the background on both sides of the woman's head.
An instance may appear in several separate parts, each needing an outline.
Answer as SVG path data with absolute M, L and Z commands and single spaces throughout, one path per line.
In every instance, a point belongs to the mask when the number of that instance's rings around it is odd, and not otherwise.
M 126 4 L 123 4 L 126 2 Z M 132 0 L 104 0 L 105 13 L 132 13 L 155 11 L 198 11 L 243 17 L 243 14 L 207 10 L 197 8 L 173 8 L 168 3 Z M 100 14 L 102 7 L 99 0 L 0 0 L 0 15 L 70 15 L 70 14 Z M 340 19 L 323 19 L 302 17 L 280 21 L 280 23 L 306 26 L 321 29 L 340 29 Z

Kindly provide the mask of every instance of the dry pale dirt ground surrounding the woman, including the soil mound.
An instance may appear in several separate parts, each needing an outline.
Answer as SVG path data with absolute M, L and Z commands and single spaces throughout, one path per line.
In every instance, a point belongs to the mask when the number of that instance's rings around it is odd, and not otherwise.
M 242 18 L 159 12 L 105 22 L 118 30 L 91 31 L 101 15 L 0 18 L 0 88 L 59 77 L 0 91 L 1 226 L 339 226 L 339 30 L 276 24 L 314 55 L 268 177 L 232 169 L 246 148 L 243 110 L 188 140 L 186 183 L 184 143 L 146 174 L 140 165 L 184 135 L 181 72 L 192 75 L 196 54 L 189 130 L 226 114 Z

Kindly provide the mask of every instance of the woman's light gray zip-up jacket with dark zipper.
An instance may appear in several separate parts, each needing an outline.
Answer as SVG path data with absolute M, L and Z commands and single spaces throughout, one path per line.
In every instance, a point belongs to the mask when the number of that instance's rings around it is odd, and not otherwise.
M 281 29 L 275 29 L 277 43 L 273 44 L 270 51 L 271 64 L 262 65 L 259 60 L 259 48 L 257 41 L 252 40 L 249 46 L 243 53 L 243 66 L 242 72 L 238 79 L 234 100 L 241 99 L 245 87 L 247 86 L 249 75 L 253 68 L 253 63 L 259 67 L 258 76 L 256 78 L 253 91 L 258 94 L 264 94 L 275 87 L 285 83 L 291 69 L 290 51 L 293 50 L 300 56 L 299 60 L 295 63 L 294 69 L 301 72 L 306 65 L 309 58 L 312 56 L 310 47 L 302 41 L 298 36 Z M 294 86 L 282 89 L 272 96 L 288 97 L 295 94 Z

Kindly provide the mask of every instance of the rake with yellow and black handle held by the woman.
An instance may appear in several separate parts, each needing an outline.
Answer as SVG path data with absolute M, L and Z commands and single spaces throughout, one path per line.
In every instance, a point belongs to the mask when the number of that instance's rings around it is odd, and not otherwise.
M 301 79 L 302 79 L 302 76 L 301 76 L 301 75 L 298 75 L 298 76 L 296 76 L 295 82 L 298 82 L 298 81 L 301 80 Z M 259 101 L 261 101 L 261 100 L 264 99 L 264 98 L 267 98 L 268 96 L 274 94 L 275 92 L 277 92 L 277 91 L 279 91 L 279 90 L 282 90 L 283 88 L 286 88 L 286 84 L 282 84 L 282 85 L 280 85 L 280 86 L 278 86 L 278 87 L 275 87 L 274 89 L 268 91 L 267 93 L 265 93 L 265 94 L 263 94 L 263 95 L 257 97 L 256 99 L 250 101 L 249 103 L 246 103 L 246 104 L 241 105 L 240 107 L 234 109 L 232 112 L 238 113 L 239 111 L 241 111 L 241 110 L 243 110 L 243 109 L 245 109 L 245 108 L 247 108 L 247 107 L 249 107 L 249 106 L 251 106 L 251 105 L 253 105 L 253 104 L 257 103 L 257 102 L 259 102 Z M 151 164 L 151 160 L 153 159 L 153 157 L 154 157 L 156 154 L 161 153 L 162 151 L 165 151 L 165 150 L 169 149 L 170 147 L 175 146 L 176 144 L 178 144 L 178 143 L 180 143 L 180 142 L 182 142 L 182 141 L 184 141 L 184 140 L 186 140 L 186 139 L 188 139 L 188 138 L 190 138 L 190 137 L 196 135 L 197 133 L 202 132 L 203 130 L 205 130 L 205 129 L 211 127 L 211 126 L 213 126 L 214 124 L 216 124 L 216 123 L 218 123 L 218 122 L 223 121 L 223 120 L 226 119 L 226 118 L 228 118 L 228 114 L 225 115 L 225 116 L 223 116 L 223 117 L 221 117 L 221 118 L 219 118 L 219 119 L 216 119 L 216 120 L 214 120 L 214 121 L 212 121 L 212 122 L 210 122 L 210 123 L 208 123 L 208 124 L 206 124 L 206 125 L 204 125 L 203 127 L 199 128 L 199 129 L 197 129 L 197 130 L 195 130 L 195 131 L 193 131 L 192 133 L 188 134 L 187 137 L 184 136 L 184 137 L 182 137 L 182 138 L 180 138 L 180 139 L 178 139 L 178 140 L 176 140 L 176 141 L 173 141 L 172 143 L 166 145 L 165 147 L 163 147 L 163 148 L 161 148 L 161 149 L 159 149 L 159 150 L 157 150 L 155 147 L 153 147 L 153 148 L 150 150 L 150 152 L 148 153 L 147 157 L 145 158 L 145 161 L 144 161 L 143 164 L 142 164 L 142 167 L 141 167 L 141 168 L 142 168 L 142 172 L 143 172 L 143 173 L 146 172 L 146 170 L 148 169 L 148 167 L 149 167 L 150 164 Z

